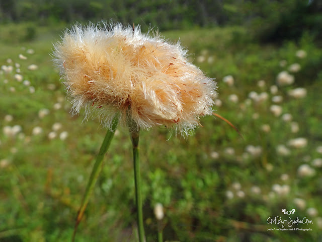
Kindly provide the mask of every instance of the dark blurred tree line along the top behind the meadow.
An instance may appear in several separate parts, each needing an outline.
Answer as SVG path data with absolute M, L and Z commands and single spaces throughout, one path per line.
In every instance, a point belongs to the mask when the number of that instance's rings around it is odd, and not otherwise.
M 321 13 L 319 0 L 0 0 L 0 24 L 113 20 L 160 30 L 243 24 L 262 41 L 304 31 L 320 39 Z

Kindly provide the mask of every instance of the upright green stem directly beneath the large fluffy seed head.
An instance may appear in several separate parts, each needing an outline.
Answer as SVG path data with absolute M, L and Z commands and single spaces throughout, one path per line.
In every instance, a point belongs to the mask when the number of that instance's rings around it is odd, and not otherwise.
M 141 176 L 140 176 L 140 160 L 139 160 L 139 130 L 131 129 L 131 141 L 133 146 L 133 165 L 134 165 L 134 182 L 135 182 L 135 200 L 137 208 L 137 223 L 139 231 L 139 242 L 144 242 L 144 226 L 142 211 L 142 195 L 141 195 Z

